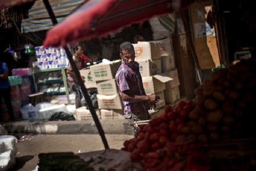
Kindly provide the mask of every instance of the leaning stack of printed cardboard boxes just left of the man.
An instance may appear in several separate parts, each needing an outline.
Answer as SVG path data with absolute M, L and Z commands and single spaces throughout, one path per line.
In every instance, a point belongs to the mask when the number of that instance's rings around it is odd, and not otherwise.
M 97 99 L 101 119 L 123 119 L 123 103 L 115 81 L 121 60 L 100 63 L 90 67 L 98 89 Z

